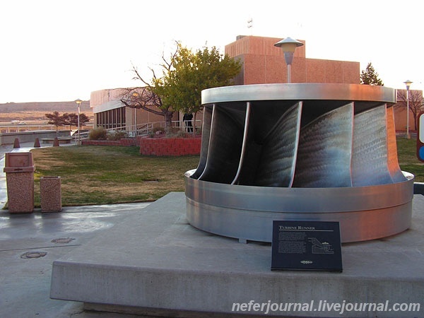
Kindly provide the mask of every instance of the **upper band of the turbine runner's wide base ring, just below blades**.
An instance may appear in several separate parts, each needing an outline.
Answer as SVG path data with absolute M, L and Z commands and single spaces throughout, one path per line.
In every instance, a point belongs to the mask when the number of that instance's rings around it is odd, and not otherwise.
M 184 174 L 186 196 L 202 204 L 223 208 L 297 213 L 367 211 L 406 204 L 413 199 L 413 175 L 405 182 L 366 187 L 285 188 L 219 184 Z

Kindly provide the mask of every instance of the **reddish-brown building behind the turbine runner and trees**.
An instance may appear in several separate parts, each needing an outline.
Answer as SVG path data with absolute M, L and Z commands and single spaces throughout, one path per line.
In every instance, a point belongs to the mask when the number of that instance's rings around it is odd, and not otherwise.
M 283 50 L 274 44 L 277 37 L 239 35 L 235 42 L 225 45 L 225 54 L 242 61 L 242 71 L 235 78 L 235 85 L 287 83 L 287 65 Z M 292 64 L 293 83 L 360 83 L 360 63 L 329 59 L 308 59 L 306 42 L 295 50 Z M 105 128 L 134 129 L 146 123 L 161 122 L 163 117 L 143 110 L 129 109 L 119 101 L 122 89 L 98 90 L 91 93 L 90 107 L 95 114 L 95 126 Z M 421 92 L 422 94 L 422 92 Z M 198 114 L 197 119 L 201 119 Z M 175 121 L 179 114 L 175 114 Z M 405 130 L 406 107 L 395 107 L 396 130 Z M 200 124 L 198 124 L 199 126 Z M 413 115 L 409 116 L 410 129 L 414 127 Z M 132 128 L 131 128 L 132 127 Z

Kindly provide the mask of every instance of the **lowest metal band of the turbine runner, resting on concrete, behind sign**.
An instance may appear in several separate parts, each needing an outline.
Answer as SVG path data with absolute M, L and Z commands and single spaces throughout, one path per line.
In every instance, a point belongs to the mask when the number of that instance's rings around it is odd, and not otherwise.
M 201 204 L 187 198 L 187 220 L 195 228 L 226 237 L 272 241 L 273 220 L 337 221 L 341 242 L 360 242 L 395 235 L 411 226 L 412 202 L 370 211 L 349 213 L 293 213 L 245 211 Z M 358 230 L 360 229 L 360 230 Z

